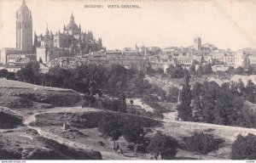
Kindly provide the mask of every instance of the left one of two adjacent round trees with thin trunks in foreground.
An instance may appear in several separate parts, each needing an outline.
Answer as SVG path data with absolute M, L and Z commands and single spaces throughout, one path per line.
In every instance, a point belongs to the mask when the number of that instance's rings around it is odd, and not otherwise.
M 122 136 L 120 131 L 122 124 L 113 115 L 107 114 L 102 117 L 102 120 L 98 123 L 98 130 L 102 132 L 105 137 L 110 137 L 113 140 L 113 149 L 115 149 L 115 141 Z

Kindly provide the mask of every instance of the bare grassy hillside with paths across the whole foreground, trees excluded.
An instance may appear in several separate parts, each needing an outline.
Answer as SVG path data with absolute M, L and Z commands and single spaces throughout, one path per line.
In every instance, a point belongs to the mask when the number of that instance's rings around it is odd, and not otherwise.
M 182 81 L 182 79 L 179 79 L 179 81 Z M 79 100 L 81 95 L 68 89 L 40 87 L 6 80 L 1 80 L 1 82 L 6 83 L 3 83 L 0 87 L 0 99 L 2 99 L 0 106 L 1 104 L 9 104 L 15 110 L 3 108 L 2 112 L 5 114 L 3 116 L 8 119 L 12 117 L 12 121 L 17 120 L 18 123 L 0 129 L 2 133 L 2 137 L 0 137 L 0 159 L 146 160 L 145 147 L 144 149 L 143 147 L 138 149 L 137 155 L 134 155 L 131 143 L 127 143 L 124 137 L 120 137 L 117 141 L 123 149 L 124 155 L 119 155 L 113 150 L 111 138 L 103 137 L 97 129 L 98 122 L 106 113 L 123 121 L 139 122 L 147 131 L 146 138 L 151 138 L 157 131 L 176 138 L 179 143 L 178 152 L 175 156 L 176 160 L 230 159 L 231 145 L 238 134 L 246 135 L 248 132 L 256 134 L 256 129 L 250 128 L 175 121 L 177 116 L 175 103 L 172 104 L 172 107 L 166 108 L 164 119 L 161 121 L 110 110 L 74 107 L 74 105 L 70 107 L 41 107 L 38 108 L 39 110 L 34 110 L 33 108 L 37 104 L 42 104 L 37 101 L 38 97 L 42 97 L 42 94 L 45 98 L 55 98 L 59 102 L 61 102 L 61 98 L 70 100 L 73 96 L 77 96 Z M 175 84 L 173 81 L 172 83 Z M 178 84 L 177 81 L 176 84 Z M 173 85 L 170 84 L 170 86 Z M 58 96 L 61 98 L 56 98 Z M 18 106 L 20 108 L 17 109 Z M 64 128 L 63 124 L 67 125 L 67 128 Z M 218 150 L 213 150 L 202 156 L 185 149 L 183 147 L 183 137 L 200 131 L 211 133 L 215 138 L 223 139 L 224 143 L 220 144 Z

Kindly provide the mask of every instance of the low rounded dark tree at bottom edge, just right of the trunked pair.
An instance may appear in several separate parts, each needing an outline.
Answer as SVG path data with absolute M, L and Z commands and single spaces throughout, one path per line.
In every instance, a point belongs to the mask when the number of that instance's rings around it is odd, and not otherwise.
M 161 158 L 172 159 L 177 154 L 177 140 L 156 132 L 153 138 L 150 138 L 147 150 L 154 155 L 161 155 Z

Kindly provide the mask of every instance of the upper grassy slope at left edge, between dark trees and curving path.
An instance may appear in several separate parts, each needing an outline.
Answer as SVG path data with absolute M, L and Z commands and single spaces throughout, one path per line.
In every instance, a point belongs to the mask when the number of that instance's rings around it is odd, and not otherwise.
M 79 102 L 82 96 L 71 89 L 0 79 L 0 106 L 11 109 L 32 108 L 35 102 L 44 104 L 42 107 L 49 107 L 45 104 L 69 106 Z

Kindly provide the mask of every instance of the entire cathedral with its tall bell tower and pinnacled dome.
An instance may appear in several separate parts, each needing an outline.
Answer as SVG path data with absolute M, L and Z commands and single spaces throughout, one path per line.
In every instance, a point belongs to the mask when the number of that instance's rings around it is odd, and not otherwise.
M 53 34 L 47 26 L 44 35 L 34 33 L 33 41 L 32 37 L 32 12 L 23 0 L 16 11 L 16 48 L 1 49 L 0 64 L 25 65 L 32 60 L 47 64 L 55 58 L 102 49 L 102 38 L 96 40 L 91 31 L 83 32 L 80 25 L 75 23 L 73 14 L 62 32 L 59 30 Z

